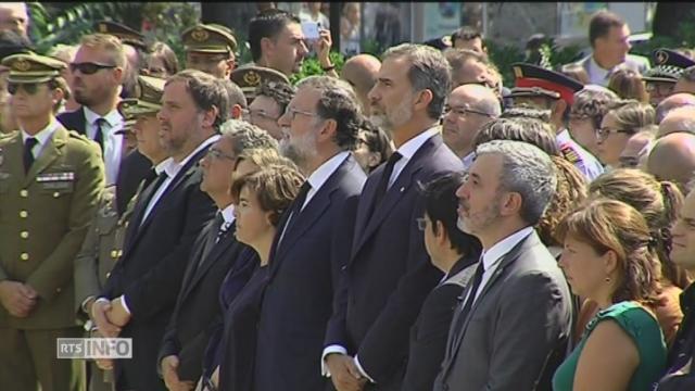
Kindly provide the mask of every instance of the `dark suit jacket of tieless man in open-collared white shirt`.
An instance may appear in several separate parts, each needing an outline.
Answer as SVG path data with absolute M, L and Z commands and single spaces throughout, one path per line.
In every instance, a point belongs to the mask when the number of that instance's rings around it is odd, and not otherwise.
M 198 161 L 207 148 L 181 167 L 148 218 L 142 213 L 153 181 L 140 195 L 126 230 L 123 255 L 114 266 L 102 297 L 125 294 L 132 318 L 121 337 L 132 338 L 131 360 L 116 362 L 117 389 L 124 379 L 137 390 L 163 390 L 157 376 L 157 352 L 181 287 L 193 242 L 217 207 L 200 190 Z M 125 378 L 124 378 L 125 375 Z

